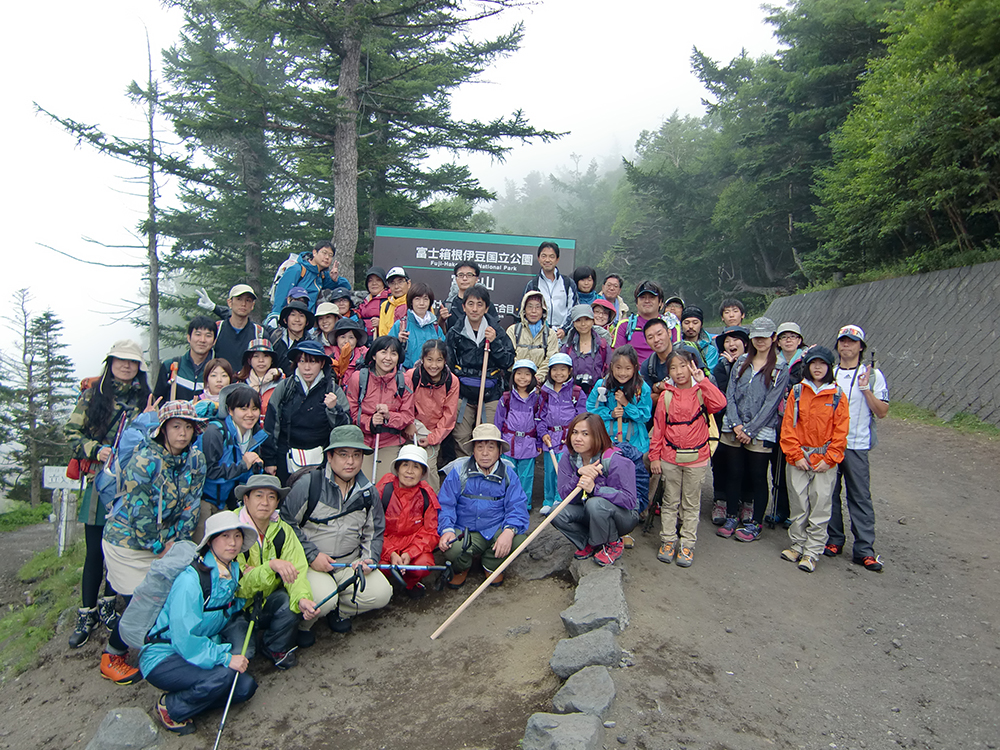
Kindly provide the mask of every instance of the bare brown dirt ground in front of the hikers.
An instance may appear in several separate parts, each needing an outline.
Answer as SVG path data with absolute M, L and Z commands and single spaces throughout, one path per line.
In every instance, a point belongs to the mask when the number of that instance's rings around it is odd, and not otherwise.
M 659 563 L 656 534 L 637 532 L 619 639 L 631 666 L 613 670 L 606 747 L 1000 747 L 997 444 L 891 420 L 879 434 L 882 574 L 853 565 L 849 545 L 808 575 L 779 559 L 783 531 L 716 537 L 707 493 L 694 567 Z M 548 659 L 573 589 L 510 578 L 429 640 L 466 589 L 394 600 L 346 637 L 320 624 L 288 673 L 255 662 L 260 688 L 231 712 L 222 746 L 516 748 L 558 689 Z M 152 706 L 151 686 L 100 679 L 103 636 L 79 651 L 65 639 L 0 690 L 0 748 L 83 747 L 109 709 Z M 219 716 L 164 746 L 211 747 Z

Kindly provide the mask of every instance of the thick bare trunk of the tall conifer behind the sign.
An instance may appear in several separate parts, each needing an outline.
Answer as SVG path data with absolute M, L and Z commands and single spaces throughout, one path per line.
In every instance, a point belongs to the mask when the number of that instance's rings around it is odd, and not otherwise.
M 350 9 L 357 5 L 349 3 Z M 337 128 L 333 136 L 333 244 L 340 275 L 354 285 L 358 247 L 358 87 L 361 83 L 361 39 L 348 21 L 344 32 L 337 83 Z

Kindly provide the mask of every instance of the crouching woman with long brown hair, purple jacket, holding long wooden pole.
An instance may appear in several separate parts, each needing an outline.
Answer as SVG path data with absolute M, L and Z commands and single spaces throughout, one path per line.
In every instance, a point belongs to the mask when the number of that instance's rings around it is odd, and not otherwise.
M 593 557 L 600 566 L 622 556 L 622 536 L 639 524 L 635 464 L 618 452 L 596 414 L 579 414 L 566 430 L 566 452 L 559 461 L 559 496 L 577 495 L 552 525 L 569 539 L 577 560 Z

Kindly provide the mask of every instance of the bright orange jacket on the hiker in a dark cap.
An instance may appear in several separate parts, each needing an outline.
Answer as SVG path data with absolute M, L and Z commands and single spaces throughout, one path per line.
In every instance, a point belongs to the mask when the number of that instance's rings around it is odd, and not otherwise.
M 850 411 L 847 405 L 847 395 L 840 397 L 836 413 L 833 411 L 834 396 L 837 393 L 836 383 L 827 383 L 818 390 L 812 381 L 806 378 L 801 383 L 799 396 L 799 417 L 795 423 L 795 387 L 788 394 L 785 404 L 785 417 L 781 422 L 781 451 L 785 460 L 794 464 L 801 460 L 807 448 L 819 448 L 828 441 L 826 455 L 812 453 L 809 463 L 816 466 L 820 461 L 826 461 L 833 466 L 844 460 L 844 450 L 847 448 L 847 429 L 850 423 Z

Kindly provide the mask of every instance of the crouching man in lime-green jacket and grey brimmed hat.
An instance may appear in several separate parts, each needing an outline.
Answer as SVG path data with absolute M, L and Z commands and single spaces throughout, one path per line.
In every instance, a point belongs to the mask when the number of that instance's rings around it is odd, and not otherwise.
M 252 476 L 236 488 L 236 499 L 243 504 L 240 521 L 255 534 L 249 549 L 239 556 L 239 595 L 248 602 L 247 608 L 225 632 L 226 640 L 242 645 L 253 614 L 251 603 L 260 594 L 263 605 L 247 645 L 247 658 L 254 657 L 259 640 L 264 655 L 278 669 L 295 666 L 299 621 L 312 620 L 317 614 L 306 578 L 306 553 L 295 532 L 278 515 L 278 505 L 288 492 L 277 477 L 268 474 Z

